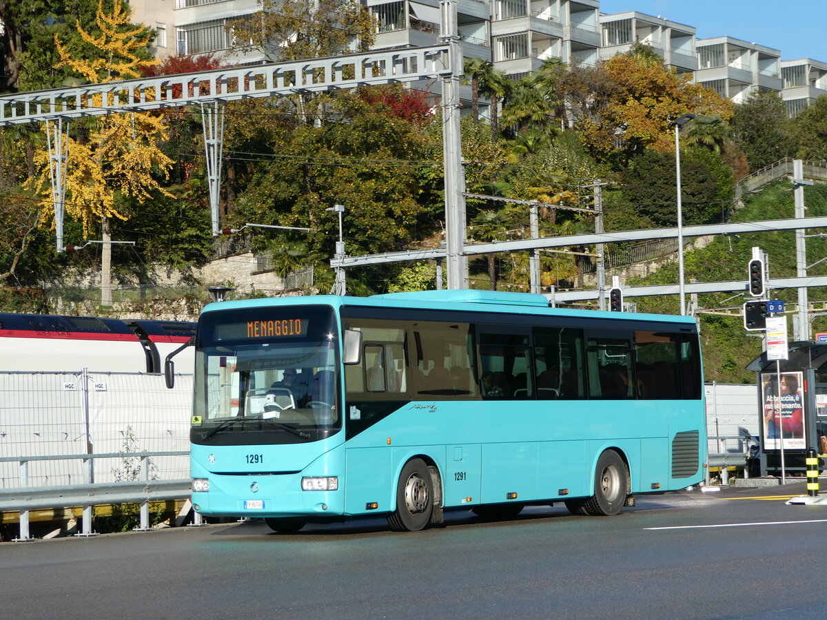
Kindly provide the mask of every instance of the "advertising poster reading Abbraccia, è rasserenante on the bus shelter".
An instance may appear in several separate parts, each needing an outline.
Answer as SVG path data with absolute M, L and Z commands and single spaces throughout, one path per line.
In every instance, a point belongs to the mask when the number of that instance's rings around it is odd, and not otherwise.
M 781 410 L 778 408 L 776 373 L 761 375 L 764 413 L 764 449 L 805 450 L 804 379 L 801 372 L 781 374 Z

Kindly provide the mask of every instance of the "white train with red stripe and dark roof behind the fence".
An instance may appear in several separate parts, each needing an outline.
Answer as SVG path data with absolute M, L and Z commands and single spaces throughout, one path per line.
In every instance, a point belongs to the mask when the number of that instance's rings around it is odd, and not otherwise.
M 194 322 L 0 312 L 0 370 L 163 373 L 194 333 Z M 193 364 L 192 354 L 175 358 L 176 372 Z

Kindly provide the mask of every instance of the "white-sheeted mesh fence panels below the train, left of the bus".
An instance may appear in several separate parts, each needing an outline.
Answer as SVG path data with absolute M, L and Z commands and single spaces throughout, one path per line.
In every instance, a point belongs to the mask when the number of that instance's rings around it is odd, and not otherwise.
M 189 451 L 192 375 L 167 389 L 160 374 L 0 372 L 0 456 Z M 82 460 L 31 460 L 28 486 L 78 484 Z M 0 462 L 0 488 L 20 486 Z M 93 481 L 140 479 L 138 457 L 95 459 Z M 189 458 L 151 457 L 150 479 L 189 476 Z

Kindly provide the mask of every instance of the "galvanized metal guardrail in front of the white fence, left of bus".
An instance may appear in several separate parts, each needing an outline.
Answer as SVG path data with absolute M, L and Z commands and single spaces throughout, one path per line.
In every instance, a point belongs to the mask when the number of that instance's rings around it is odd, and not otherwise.
M 41 508 L 81 507 L 83 513 L 82 532 L 78 536 L 94 536 L 92 532 L 92 507 L 107 503 L 140 503 L 141 521 L 136 532 L 149 529 L 150 502 L 166 499 L 189 498 L 189 478 L 171 480 L 150 480 L 151 458 L 154 456 L 183 456 L 188 451 L 174 452 L 112 452 L 105 454 L 48 455 L 48 456 L 7 456 L 0 463 L 20 464 L 21 486 L 14 489 L 0 489 L 0 511 L 20 511 L 20 536 L 15 541 L 31 541 L 29 532 L 29 511 Z M 93 482 L 93 461 L 95 459 L 141 459 L 141 479 L 127 482 Z M 38 460 L 83 460 L 84 481 L 82 484 L 60 486 L 28 486 L 29 463 Z

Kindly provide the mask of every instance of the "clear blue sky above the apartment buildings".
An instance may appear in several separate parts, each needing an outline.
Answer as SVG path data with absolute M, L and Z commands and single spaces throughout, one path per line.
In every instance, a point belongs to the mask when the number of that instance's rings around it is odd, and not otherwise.
M 827 0 L 600 0 L 600 12 L 637 11 L 781 50 L 782 60 L 827 62 Z

